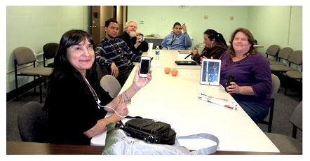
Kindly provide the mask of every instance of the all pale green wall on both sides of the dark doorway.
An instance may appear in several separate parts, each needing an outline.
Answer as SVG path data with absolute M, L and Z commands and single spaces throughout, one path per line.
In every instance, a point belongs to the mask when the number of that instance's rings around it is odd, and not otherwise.
M 25 45 L 40 53 L 43 44 L 58 42 L 69 29 L 88 31 L 89 14 L 90 6 L 6 6 L 6 92 L 15 89 L 14 48 Z M 194 45 L 203 41 L 205 29 L 215 29 L 229 41 L 234 29 L 247 27 L 265 46 L 262 53 L 274 43 L 302 50 L 302 6 L 128 6 L 127 17 L 137 20 L 143 34 L 161 36 L 169 34 L 174 22 L 186 23 Z M 22 78 L 20 85 L 29 81 Z

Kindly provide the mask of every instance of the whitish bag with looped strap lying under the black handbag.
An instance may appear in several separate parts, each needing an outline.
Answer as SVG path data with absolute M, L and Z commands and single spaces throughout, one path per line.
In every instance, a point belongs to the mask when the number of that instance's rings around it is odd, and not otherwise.
M 215 145 L 201 148 L 195 151 L 189 151 L 188 148 L 180 146 L 177 139 L 175 145 L 170 146 L 167 144 L 149 144 L 143 140 L 129 137 L 126 132 L 116 128 L 115 123 L 107 125 L 107 137 L 105 140 L 105 148 L 102 154 L 105 155 L 189 155 L 189 154 L 212 154 L 217 151 L 219 140 L 212 134 L 193 134 L 190 136 L 177 137 L 179 139 L 210 139 L 215 142 Z

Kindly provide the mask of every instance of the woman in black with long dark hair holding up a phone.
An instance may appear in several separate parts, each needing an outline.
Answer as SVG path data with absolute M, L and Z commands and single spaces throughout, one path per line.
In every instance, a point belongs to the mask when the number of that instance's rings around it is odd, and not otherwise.
M 100 87 L 94 62 L 90 34 L 74 29 L 62 35 L 45 102 L 50 143 L 89 145 L 92 137 L 105 132 L 107 124 L 128 114 L 126 103 L 151 80 L 150 73 L 140 78 L 136 71 L 128 90 L 112 99 Z

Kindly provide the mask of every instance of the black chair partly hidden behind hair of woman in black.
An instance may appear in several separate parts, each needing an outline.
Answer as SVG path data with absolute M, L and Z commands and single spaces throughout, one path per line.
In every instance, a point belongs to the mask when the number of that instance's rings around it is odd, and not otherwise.
M 48 59 L 52 59 L 56 56 L 59 44 L 58 43 L 46 43 L 43 45 L 43 66 L 54 67 L 54 62 L 46 64 Z

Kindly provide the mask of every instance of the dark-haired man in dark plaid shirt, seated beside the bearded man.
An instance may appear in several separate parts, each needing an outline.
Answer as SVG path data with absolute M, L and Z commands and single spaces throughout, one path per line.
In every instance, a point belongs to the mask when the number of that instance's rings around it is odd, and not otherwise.
M 116 37 L 119 34 L 119 22 L 114 18 L 105 21 L 105 33 L 105 38 L 95 48 L 96 60 L 108 70 L 111 69 L 110 74 L 123 87 L 135 66 L 133 62 L 140 62 L 141 56 L 132 52 L 125 41 Z

